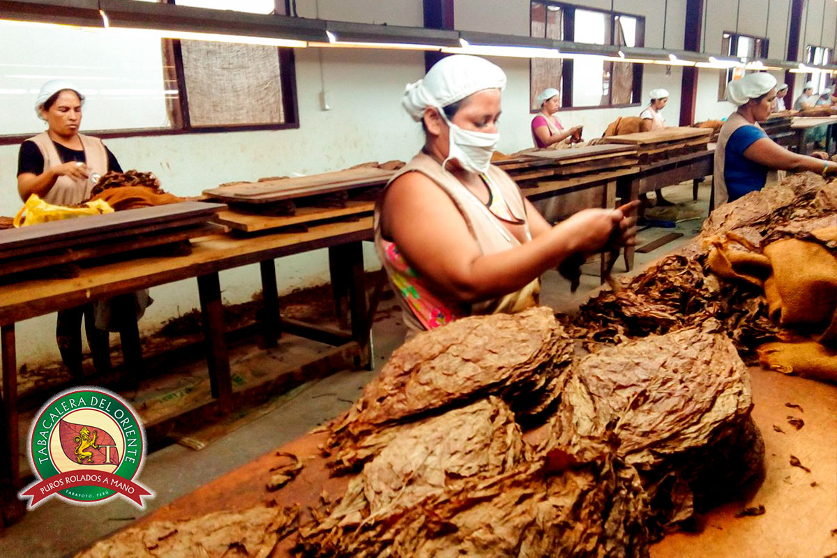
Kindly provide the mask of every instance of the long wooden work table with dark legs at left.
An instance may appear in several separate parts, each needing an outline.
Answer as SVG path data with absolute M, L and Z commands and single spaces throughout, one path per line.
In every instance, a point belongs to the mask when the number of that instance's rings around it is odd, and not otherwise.
M 0 285 L 0 329 L 3 347 L 3 433 L 6 439 L 0 471 L 14 487 L 20 485 L 18 463 L 18 363 L 15 354 L 15 322 L 87 302 L 108 299 L 181 279 L 197 278 L 203 332 L 213 402 L 209 412 L 229 412 L 235 393 L 224 340 L 226 327 L 218 272 L 247 264 L 260 264 L 264 304 L 263 328 L 266 345 L 275 346 L 282 329 L 337 346 L 346 346 L 344 356 L 365 365 L 369 357 L 369 317 L 363 272 L 362 241 L 372 238 L 372 218 L 311 225 L 302 232 L 278 232 L 248 238 L 215 234 L 193 241 L 192 253 L 132 259 L 82 269 L 71 279 L 33 279 Z M 313 326 L 280 321 L 275 258 L 317 248 L 329 249 L 332 279 L 347 287 L 351 333 L 322 331 Z M 291 327 L 289 327 L 289 325 Z M 349 351 L 348 349 L 351 349 Z M 351 356 L 348 353 L 352 353 Z M 190 409 L 190 412 L 196 412 Z M 146 425 L 147 427 L 147 425 Z

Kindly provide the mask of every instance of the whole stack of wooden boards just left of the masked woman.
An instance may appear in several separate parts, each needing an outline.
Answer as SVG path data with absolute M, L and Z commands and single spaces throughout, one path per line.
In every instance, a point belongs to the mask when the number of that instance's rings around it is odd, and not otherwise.
M 375 198 L 395 171 L 359 166 L 307 177 L 233 182 L 205 190 L 229 204 L 217 221 L 243 233 L 371 213 Z

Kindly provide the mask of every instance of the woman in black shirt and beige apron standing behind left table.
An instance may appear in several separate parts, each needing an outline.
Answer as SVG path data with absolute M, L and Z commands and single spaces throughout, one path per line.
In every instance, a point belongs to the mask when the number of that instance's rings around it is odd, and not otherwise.
M 121 172 L 119 162 L 98 138 L 79 133 L 84 96 L 63 79 L 48 81 L 41 88 L 35 112 L 47 123 L 47 131 L 24 141 L 18 156 L 18 193 L 25 202 L 35 194 L 45 202 L 74 206 L 90 199 L 95 181 L 108 171 Z M 148 291 L 126 294 L 108 302 L 60 310 L 55 328 L 59 351 L 74 379 L 82 372 L 81 321 L 96 371 L 110 370 L 110 341 L 107 330 L 136 331 L 136 320 L 150 304 Z M 110 303 L 113 304 L 110 304 Z M 136 308 L 136 315 L 113 315 L 114 305 Z M 131 314 L 129 311 L 127 314 Z M 107 316 L 102 320 L 98 316 Z M 97 317 L 95 317 L 97 316 Z M 123 320 L 124 318 L 124 320 Z M 124 327 L 134 320 L 132 327 Z M 124 337 L 123 347 L 125 347 Z M 136 346 L 137 342 L 132 343 Z M 136 351 L 135 351 L 136 352 Z

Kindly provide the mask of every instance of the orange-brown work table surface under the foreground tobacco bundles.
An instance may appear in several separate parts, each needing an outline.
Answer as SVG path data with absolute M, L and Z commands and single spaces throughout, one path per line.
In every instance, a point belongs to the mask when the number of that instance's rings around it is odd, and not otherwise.
M 653 545 L 652 558 L 819 558 L 837 551 L 837 537 L 830 534 L 837 527 L 837 387 L 756 367 L 750 368 L 750 374 L 752 417 L 763 433 L 767 476 L 747 505 L 763 504 L 765 514 L 736 518 L 744 503 L 724 505 L 702 518 L 700 533 L 675 533 Z M 788 402 L 804 410 L 788 408 Z M 788 415 L 804 418 L 804 427 L 794 429 Z M 276 449 L 293 453 L 306 464 L 296 479 L 277 492 L 268 492 L 265 484 L 270 468 L 287 459 L 274 451 L 128 527 L 247 509 L 271 499 L 280 505 L 316 506 L 323 491 L 334 500 L 344 493 L 348 478 L 329 476 L 317 448 L 324 440 L 324 433 L 311 433 Z M 791 467 L 790 455 L 798 457 L 811 473 Z M 153 485 L 153 479 L 145 480 Z M 292 539 L 282 541 L 271 556 L 290 557 Z

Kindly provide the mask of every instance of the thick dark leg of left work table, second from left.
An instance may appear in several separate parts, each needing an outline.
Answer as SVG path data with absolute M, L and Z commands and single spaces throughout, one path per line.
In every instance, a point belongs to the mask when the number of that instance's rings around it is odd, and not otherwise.
M 198 277 L 198 294 L 201 299 L 203 339 L 206 343 L 209 386 L 213 397 L 218 398 L 221 410 L 229 411 L 233 394 L 233 383 L 229 375 L 227 342 L 223 339 L 223 302 L 218 274 Z

